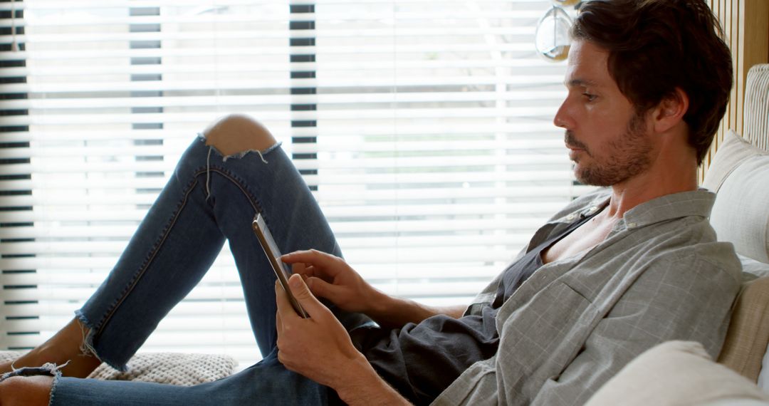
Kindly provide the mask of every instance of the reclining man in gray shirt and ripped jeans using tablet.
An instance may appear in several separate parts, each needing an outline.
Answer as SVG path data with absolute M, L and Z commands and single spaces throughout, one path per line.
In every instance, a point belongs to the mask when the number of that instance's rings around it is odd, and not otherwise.
M 269 133 L 242 117 L 221 121 L 206 131 L 209 145 L 225 156 L 262 151 L 269 164 L 245 167 L 248 156 L 212 164 L 210 149 L 192 145 L 78 319 L 18 366 L 72 359 L 62 371 L 75 376 L 98 360 L 124 366 L 188 291 L 178 285 L 194 285 L 211 260 L 206 253 L 225 237 L 265 360 L 192 388 L 14 377 L 0 383 L 0 401 L 582 404 L 661 341 L 700 341 L 716 355 L 740 279 L 731 245 L 717 243 L 707 224 L 714 195 L 697 190 L 697 165 L 731 88 L 731 57 L 718 33 L 702 0 L 582 6 L 568 95 L 554 123 L 565 130 L 577 178 L 609 188 L 554 215 L 469 307 L 430 308 L 372 288 L 338 258 Z M 286 191 L 295 198 L 287 201 Z M 281 249 L 305 250 L 283 259 L 298 274 L 289 284 L 310 318 L 300 318 L 277 285 L 275 314 L 272 280 L 244 271 L 259 261 L 243 221 L 254 211 L 268 218 Z M 23 373 L 32 372 L 41 371 Z

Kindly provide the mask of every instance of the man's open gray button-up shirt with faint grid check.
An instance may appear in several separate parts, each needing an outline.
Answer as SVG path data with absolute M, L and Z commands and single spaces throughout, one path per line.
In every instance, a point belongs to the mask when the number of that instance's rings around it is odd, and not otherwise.
M 606 205 L 609 193 L 573 201 L 529 247 Z M 714 198 L 700 190 L 647 201 L 594 248 L 541 267 L 500 308 L 497 354 L 464 371 L 434 404 L 584 404 L 662 341 L 699 341 L 716 357 L 741 266 L 707 221 Z M 493 300 L 498 279 L 469 313 Z

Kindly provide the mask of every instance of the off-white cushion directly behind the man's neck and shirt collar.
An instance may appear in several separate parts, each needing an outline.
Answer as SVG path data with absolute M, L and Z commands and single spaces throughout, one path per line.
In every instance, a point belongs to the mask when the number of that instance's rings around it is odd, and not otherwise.
M 769 152 L 729 131 L 703 186 L 717 192 L 711 224 L 737 253 L 769 262 Z

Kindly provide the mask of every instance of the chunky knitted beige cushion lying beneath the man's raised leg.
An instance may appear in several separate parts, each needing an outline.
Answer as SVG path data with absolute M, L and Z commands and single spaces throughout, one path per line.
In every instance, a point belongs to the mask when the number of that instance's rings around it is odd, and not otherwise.
M 0 363 L 14 360 L 22 354 L 18 351 L 0 351 Z M 101 364 L 88 378 L 191 386 L 225 378 L 232 374 L 237 364 L 235 359 L 227 355 L 139 353 L 128 361 L 126 372 Z

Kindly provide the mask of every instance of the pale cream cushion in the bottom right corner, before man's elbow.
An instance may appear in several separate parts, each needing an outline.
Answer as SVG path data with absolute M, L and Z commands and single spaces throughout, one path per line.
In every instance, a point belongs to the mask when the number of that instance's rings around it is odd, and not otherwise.
M 665 406 L 743 401 L 767 405 L 769 395 L 731 369 L 711 361 L 702 344 L 667 341 L 625 365 L 585 405 Z

